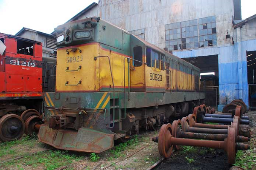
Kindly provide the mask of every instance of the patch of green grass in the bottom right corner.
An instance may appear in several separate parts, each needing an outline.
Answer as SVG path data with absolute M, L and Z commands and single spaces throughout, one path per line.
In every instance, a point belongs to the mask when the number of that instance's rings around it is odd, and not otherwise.
M 254 150 L 238 150 L 236 153 L 236 166 L 240 166 L 244 168 L 245 170 L 252 170 L 255 169 L 255 163 L 256 161 L 253 161 L 256 159 L 256 153 Z

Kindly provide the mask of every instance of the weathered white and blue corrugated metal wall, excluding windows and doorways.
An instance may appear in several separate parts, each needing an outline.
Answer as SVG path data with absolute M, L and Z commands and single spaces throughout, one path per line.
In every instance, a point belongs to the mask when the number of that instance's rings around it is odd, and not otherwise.
M 145 40 L 160 48 L 166 46 L 166 24 L 215 16 L 217 47 L 173 53 L 181 58 L 218 55 L 220 104 L 242 98 L 248 105 L 246 51 L 256 50 L 256 19 L 235 30 L 233 0 L 100 0 L 84 17 L 96 14 L 127 31 L 145 29 Z

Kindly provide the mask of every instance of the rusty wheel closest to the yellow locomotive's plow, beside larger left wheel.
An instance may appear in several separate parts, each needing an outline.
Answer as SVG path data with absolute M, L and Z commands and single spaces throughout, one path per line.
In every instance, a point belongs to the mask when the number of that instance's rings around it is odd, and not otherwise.
M 34 133 L 38 133 L 40 125 L 43 123 L 40 116 L 30 116 L 25 122 L 25 133 L 32 137 Z

